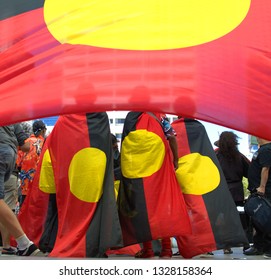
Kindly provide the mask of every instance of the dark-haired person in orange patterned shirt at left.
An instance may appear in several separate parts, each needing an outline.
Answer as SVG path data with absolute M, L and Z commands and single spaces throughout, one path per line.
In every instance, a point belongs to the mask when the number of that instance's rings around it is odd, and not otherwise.
M 30 143 L 29 152 L 19 152 L 17 158 L 17 166 L 20 170 L 20 207 L 31 187 L 41 153 L 41 149 L 45 140 L 46 125 L 41 120 L 36 120 L 32 124 L 33 133 L 27 139 Z

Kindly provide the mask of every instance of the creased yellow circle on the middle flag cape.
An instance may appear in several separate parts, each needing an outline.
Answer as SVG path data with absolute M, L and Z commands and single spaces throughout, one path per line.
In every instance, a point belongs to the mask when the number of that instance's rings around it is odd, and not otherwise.
M 121 144 L 121 170 L 126 178 L 136 179 L 157 172 L 165 158 L 163 140 L 153 132 L 130 132 Z

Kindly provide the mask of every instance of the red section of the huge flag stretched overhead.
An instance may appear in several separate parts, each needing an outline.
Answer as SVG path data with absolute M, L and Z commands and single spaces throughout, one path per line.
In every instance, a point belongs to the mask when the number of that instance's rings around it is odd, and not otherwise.
M 163 111 L 271 138 L 270 15 L 271 1 L 251 1 L 225 36 L 161 51 L 61 45 L 42 8 L 2 20 L 0 125 L 86 111 Z

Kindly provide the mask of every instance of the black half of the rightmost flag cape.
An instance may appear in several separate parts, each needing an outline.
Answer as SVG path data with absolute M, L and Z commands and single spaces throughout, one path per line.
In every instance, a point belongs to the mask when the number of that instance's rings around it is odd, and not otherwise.
M 193 119 L 185 119 L 185 127 L 191 153 L 200 151 L 202 156 L 210 158 L 220 173 L 219 186 L 202 195 L 217 248 L 238 247 L 248 243 L 240 216 L 227 186 L 227 182 L 209 140 L 205 127 Z M 199 140 L 200 139 L 200 140 Z M 231 225 L 231 226 L 229 226 Z M 232 232 L 235 233 L 232 238 Z

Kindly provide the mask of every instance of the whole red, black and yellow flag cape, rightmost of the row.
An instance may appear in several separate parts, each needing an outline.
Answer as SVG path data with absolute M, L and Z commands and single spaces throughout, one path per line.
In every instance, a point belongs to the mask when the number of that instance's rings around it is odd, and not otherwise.
M 194 119 L 172 123 L 177 133 L 178 182 L 183 191 L 192 234 L 176 237 L 185 258 L 248 244 L 239 213 L 228 190 L 205 127 Z

